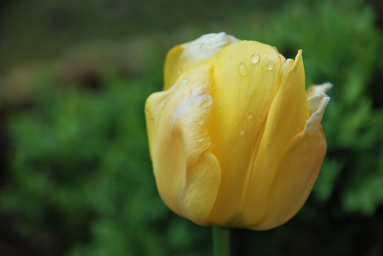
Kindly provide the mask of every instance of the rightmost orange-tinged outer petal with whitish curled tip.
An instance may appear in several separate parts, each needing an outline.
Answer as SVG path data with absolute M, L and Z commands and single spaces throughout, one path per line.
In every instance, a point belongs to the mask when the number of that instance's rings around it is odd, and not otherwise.
M 326 154 L 321 120 L 330 98 L 321 92 L 312 97 L 309 104 L 311 116 L 304 130 L 283 152 L 270 185 L 264 218 L 252 229 L 267 230 L 290 220 L 306 202 L 314 186 Z

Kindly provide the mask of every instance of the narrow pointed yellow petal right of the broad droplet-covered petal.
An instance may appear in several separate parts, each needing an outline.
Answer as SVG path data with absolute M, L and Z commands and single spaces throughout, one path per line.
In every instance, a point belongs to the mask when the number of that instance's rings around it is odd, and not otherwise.
M 243 197 L 243 222 L 255 225 L 264 218 L 270 183 L 282 152 L 304 128 L 309 110 L 304 88 L 301 50 L 295 61 L 286 60 L 281 68 L 282 79 L 268 112 L 265 129 L 255 157 Z

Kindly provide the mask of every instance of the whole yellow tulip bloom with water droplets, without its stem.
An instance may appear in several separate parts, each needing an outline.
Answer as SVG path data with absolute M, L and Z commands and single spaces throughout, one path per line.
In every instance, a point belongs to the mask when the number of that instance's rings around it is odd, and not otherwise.
M 146 101 L 159 194 L 200 225 L 267 230 L 303 206 L 321 168 L 331 84 L 305 90 L 302 50 L 207 34 L 173 47 Z

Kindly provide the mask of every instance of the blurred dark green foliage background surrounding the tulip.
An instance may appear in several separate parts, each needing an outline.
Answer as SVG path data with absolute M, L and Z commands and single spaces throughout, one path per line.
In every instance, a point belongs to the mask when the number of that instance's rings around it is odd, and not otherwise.
M 308 201 L 232 255 L 383 255 L 381 1 L 0 0 L 0 254 L 210 255 L 155 188 L 144 102 L 175 44 L 225 31 L 303 49 L 334 83 Z

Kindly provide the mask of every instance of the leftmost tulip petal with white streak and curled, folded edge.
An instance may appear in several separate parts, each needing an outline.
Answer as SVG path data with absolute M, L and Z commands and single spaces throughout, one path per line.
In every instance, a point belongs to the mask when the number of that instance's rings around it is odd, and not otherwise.
M 221 168 L 207 149 L 213 103 L 212 66 L 191 68 L 168 91 L 146 102 L 146 122 L 157 188 L 177 214 L 200 225 L 216 199 Z

